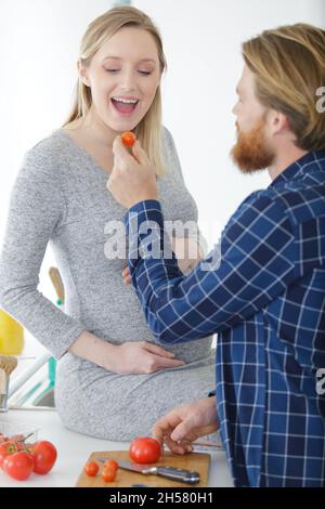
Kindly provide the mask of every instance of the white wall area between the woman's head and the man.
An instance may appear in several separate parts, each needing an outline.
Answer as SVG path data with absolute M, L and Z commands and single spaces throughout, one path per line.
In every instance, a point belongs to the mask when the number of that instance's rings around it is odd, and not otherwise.
M 229 158 L 235 140 L 231 109 L 242 73 L 240 43 L 284 24 L 324 27 L 325 1 L 135 0 L 133 4 L 156 21 L 164 37 L 169 67 L 164 120 L 176 139 L 212 247 L 237 205 L 270 182 L 266 173 L 240 174 Z

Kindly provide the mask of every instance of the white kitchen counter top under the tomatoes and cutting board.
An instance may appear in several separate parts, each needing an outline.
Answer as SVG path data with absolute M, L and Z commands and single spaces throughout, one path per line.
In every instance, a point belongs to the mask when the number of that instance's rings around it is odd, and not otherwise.
M 31 474 L 27 481 L 11 479 L 0 470 L 0 487 L 62 487 L 75 486 L 89 455 L 95 451 L 127 451 L 129 443 L 108 442 L 67 430 L 56 410 L 9 410 L 0 414 L 0 421 L 23 422 L 31 430 L 38 429 L 38 440 L 49 440 L 57 448 L 57 460 L 47 475 Z M 232 486 L 230 470 L 223 451 L 211 454 L 209 487 Z

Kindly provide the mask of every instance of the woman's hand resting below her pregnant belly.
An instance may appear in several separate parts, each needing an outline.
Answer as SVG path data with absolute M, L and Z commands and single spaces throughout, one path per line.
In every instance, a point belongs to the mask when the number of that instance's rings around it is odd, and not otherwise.
M 117 345 L 114 360 L 110 370 L 118 375 L 144 375 L 185 364 L 176 360 L 168 350 L 145 341 L 127 341 Z M 109 362 L 112 365 L 112 360 Z

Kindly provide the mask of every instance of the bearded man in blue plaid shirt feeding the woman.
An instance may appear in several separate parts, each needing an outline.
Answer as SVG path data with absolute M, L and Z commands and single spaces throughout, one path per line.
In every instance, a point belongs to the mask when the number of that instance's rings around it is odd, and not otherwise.
M 142 252 L 167 242 L 154 171 L 139 143 L 134 157 L 114 144 L 108 190 L 130 209 L 129 269 L 148 326 L 164 343 L 218 332 L 216 391 L 162 417 L 154 436 L 182 454 L 220 427 L 236 486 L 324 486 L 325 31 L 266 30 L 243 56 L 232 155 L 272 183 L 230 219 L 218 266 L 207 270 L 212 252 L 184 277 L 174 258 L 140 256 L 138 242 Z

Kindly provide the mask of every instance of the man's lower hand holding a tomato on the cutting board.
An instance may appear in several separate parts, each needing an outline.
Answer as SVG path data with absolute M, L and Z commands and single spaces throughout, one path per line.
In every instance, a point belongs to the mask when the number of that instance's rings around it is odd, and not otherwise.
M 172 453 L 185 454 L 192 451 L 192 442 L 218 428 L 214 396 L 173 408 L 155 423 L 152 434 L 161 446 L 166 442 Z

